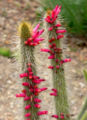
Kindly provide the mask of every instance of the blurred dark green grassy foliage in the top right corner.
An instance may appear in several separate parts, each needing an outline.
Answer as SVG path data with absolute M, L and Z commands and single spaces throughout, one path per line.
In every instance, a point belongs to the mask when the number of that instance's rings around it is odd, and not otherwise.
M 61 15 L 69 32 L 79 35 L 87 33 L 87 0 L 38 0 L 43 11 L 62 5 Z M 39 14 L 39 13 L 38 13 Z M 40 14 L 41 11 L 40 11 Z M 39 14 L 39 16 L 40 16 Z

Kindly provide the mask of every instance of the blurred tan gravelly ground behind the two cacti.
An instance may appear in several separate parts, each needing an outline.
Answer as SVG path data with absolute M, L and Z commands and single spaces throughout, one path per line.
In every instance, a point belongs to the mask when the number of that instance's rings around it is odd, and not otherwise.
M 17 34 L 17 25 L 21 20 L 35 20 L 35 9 L 38 4 L 32 1 L 29 5 L 24 0 L 0 0 L 0 47 L 10 48 L 11 51 L 17 50 L 19 44 L 19 37 Z M 67 91 L 69 94 L 70 108 L 72 118 L 76 118 L 76 115 L 80 111 L 84 97 L 86 96 L 87 85 L 83 77 L 83 69 L 87 69 L 87 48 L 78 47 L 73 42 L 76 38 L 67 38 L 63 42 L 64 54 L 66 57 L 71 57 L 72 62 L 65 65 L 65 75 L 67 82 Z M 78 41 L 79 39 L 77 39 Z M 44 46 L 44 42 L 40 45 Z M 40 52 L 36 49 L 36 56 L 40 60 Z M 42 55 L 42 54 L 41 54 Z M 42 57 L 42 56 L 41 56 Z M 41 60 L 45 59 L 45 55 Z M 40 62 L 40 61 L 39 61 Z M 49 79 L 51 76 L 46 74 L 45 69 L 48 66 L 49 61 L 43 64 L 40 62 L 38 73 L 42 74 Z M 15 94 L 20 92 L 21 81 L 19 79 L 19 63 L 15 58 L 8 59 L 0 56 L 0 120 L 18 120 L 21 119 L 21 106 L 22 100 L 16 99 Z M 47 85 L 47 83 L 46 83 Z M 47 94 L 43 93 L 43 99 L 47 102 L 50 98 L 47 98 Z M 44 106 L 44 109 L 49 105 Z M 52 106 L 51 106 L 52 107 Z

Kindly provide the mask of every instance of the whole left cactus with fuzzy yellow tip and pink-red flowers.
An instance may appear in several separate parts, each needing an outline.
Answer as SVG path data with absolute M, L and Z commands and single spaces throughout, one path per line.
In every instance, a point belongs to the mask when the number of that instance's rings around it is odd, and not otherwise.
M 39 103 L 41 100 L 38 98 L 38 94 L 47 88 L 39 88 L 38 84 L 44 82 L 44 79 L 36 76 L 35 62 L 34 62 L 34 46 L 38 45 L 43 38 L 39 36 L 44 30 L 38 30 L 40 24 L 38 24 L 33 30 L 31 24 L 23 22 L 20 27 L 21 38 L 21 63 L 22 74 L 20 78 L 23 79 L 22 93 L 16 94 L 16 97 L 24 98 L 24 116 L 26 120 L 38 120 L 39 115 L 47 114 L 48 111 L 38 111 L 40 108 Z

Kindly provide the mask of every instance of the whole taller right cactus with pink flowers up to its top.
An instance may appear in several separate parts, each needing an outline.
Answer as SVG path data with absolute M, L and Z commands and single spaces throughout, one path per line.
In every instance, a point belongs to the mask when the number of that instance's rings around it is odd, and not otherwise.
M 58 20 L 58 14 L 61 11 L 61 6 L 56 6 L 53 11 L 47 11 L 44 19 L 44 28 L 46 39 L 49 43 L 49 48 L 41 48 L 42 52 L 48 52 L 50 55 L 48 59 L 51 60 L 49 69 L 53 71 L 53 83 L 54 88 L 50 93 L 51 96 L 55 97 L 56 113 L 52 117 L 59 120 L 69 120 L 69 106 L 67 101 L 66 84 L 64 78 L 63 63 L 70 62 L 71 59 L 62 58 L 62 49 L 60 45 L 60 39 L 66 32 L 65 29 L 61 29 L 61 24 Z

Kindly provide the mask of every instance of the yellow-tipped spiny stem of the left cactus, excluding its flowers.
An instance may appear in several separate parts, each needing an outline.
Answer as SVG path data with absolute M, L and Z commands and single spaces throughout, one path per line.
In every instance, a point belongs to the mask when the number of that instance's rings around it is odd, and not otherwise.
M 27 72 L 27 64 L 31 63 L 32 64 L 32 71 L 34 75 L 36 75 L 36 70 L 35 70 L 35 62 L 34 62 L 34 47 L 32 46 L 26 46 L 24 42 L 31 37 L 32 33 L 32 28 L 31 25 L 28 24 L 27 22 L 23 22 L 20 27 L 19 27 L 19 32 L 20 32 L 20 47 L 21 47 L 21 63 L 22 63 L 22 72 L 25 73 Z M 23 78 L 23 82 L 31 82 L 27 77 Z M 29 89 L 25 86 L 24 89 L 27 90 L 27 96 L 30 96 Z M 24 115 L 26 113 L 31 113 L 32 116 L 29 117 L 31 120 L 38 120 L 37 116 L 37 108 L 34 107 L 34 103 L 30 101 L 24 101 L 24 107 L 28 104 L 31 104 L 31 108 L 29 110 L 24 110 Z

